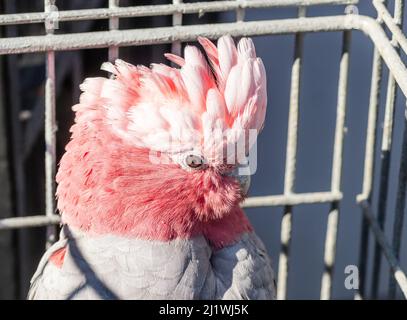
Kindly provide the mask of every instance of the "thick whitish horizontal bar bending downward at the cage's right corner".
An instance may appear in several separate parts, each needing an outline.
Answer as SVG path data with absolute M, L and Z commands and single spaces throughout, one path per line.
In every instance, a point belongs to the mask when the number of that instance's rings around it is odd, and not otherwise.
M 377 21 L 361 15 L 148 28 L 139 29 L 137 32 L 134 32 L 134 30 L 120 30 L 7 38 L 0 39 L 0 55 L 49 50 L 105 48 L 108 46 L 163 44 L 177 40 L 194 41 L 198 36 L 213 39 L 224 34 L 230 34 L 231 36 L 259 36 L 346 30 L 361 30 L 370 37 L 406 96 L 407 69 L 400 56 Z

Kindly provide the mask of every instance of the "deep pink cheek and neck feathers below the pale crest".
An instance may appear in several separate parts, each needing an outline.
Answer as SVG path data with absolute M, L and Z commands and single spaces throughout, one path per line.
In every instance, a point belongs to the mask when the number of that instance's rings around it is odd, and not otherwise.
M 63 222 L 89 234 L 163 241 L 205 234 L 222 246 L 250 230 L 233 178 L 153 164 L 148 149 L 102 130 L 68 144 L 57 181 Z

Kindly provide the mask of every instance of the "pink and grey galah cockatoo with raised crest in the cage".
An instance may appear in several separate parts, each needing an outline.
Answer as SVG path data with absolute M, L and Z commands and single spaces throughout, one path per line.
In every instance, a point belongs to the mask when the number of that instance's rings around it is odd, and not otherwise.
M 57 174 L 61 235 L 30 299 L 275 297 L 229 152 L 262 129 L 265 69 L 251 39 L 198 40 L 207 59 L 187 46 L 166 54 L 180 68 L 116 60 L 81 85 Z

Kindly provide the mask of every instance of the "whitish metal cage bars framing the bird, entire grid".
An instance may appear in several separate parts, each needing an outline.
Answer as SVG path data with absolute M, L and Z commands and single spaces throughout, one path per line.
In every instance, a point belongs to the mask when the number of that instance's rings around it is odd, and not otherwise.
M 306 8 L 317 5 L 354 5 L 358 0 L 253 0 L 253 1 L 211 1 L 184 3 L 173 0 L 171 4 L 151 5 L 137 7 L 120 7 L 119 0 L 109 0 L 108 8 L 59 11 L 59 21 L 81 21 L 107 19 L 109 31 L 53 34 L 47 29 L 46 35 L 27 37 L 8 37 L 0 39 L 0 55 L 19 53 L 44 52 L 47 56 L 47 81 L 45 88 L 45 141 L 46 141 L 46 214 L 27 217 L 15 217 L 0 220 L 0 231 L 20 229 L 26 227 L 48 226 L 47 241 L 52 242 L 54 225 L 60 222 L 55 212 L 55 51 L 82 50 L 91 48 L 108 48 L 109 60 L 119 56 L 119 47 L 155 45 L 171 43 L 172 51 L 179 53 L 182 42 L 194 41 L 198 36 L 217 39 L 224 34 L 232 36 L 260 36 L 277 34 L 294 34 L 295 49 L 291 70 L 291 93 L 289 107 L 289 126 L 287 137 L 287 155 L 285 167 L 284 193 L 281 195 L 265 195 L 250 197 L 243 207 L 282 206 L 284 210 L 281 226 L 281 253 L 278 274 L 278 298 L 287 296 L 287 281 L 289 276 L 289 247 L 291 242 L 291 227 L 293 208 L 302 204 L 329 203 L 327 233 L 324 250 L 324 272 L 321 281 L 321 299 L 331 298 L 333 268 L 335 264 L 336 239 L 338 232 L 339 208 L 342 200 L 341 176 L 343 162 L 343 140 L 346 118 L 346 97 L 349 69 L 350 37 L 353 31 L 362 31 L 374 44 L 373 72 L 370 93 L 370 106 L 368 114 L 368 127 L 366 138 L 366 152 L 364 161 L 364 179 L 362 192 L 357 201 L 362 209 L 363 227 L 360 254 L 361 289 L 358 297 L 366 298 L 365 275 L 367 264 L 368 236 L 372 232 L 375 244 L 374 268 L 380 270 L 380 257 L 384 255 L 391 268 L 390 297 L 394 298 L 396 284 L 407 298 L 406 274 L 400 267 L 399 250 L 402 235 L 402 222 L 404 217 L 406 181 L 407 181 L 407 121 L 403 141 L 403 152 L 400 166 L 400 178 L 396 205 L 396 221 L 394 224 L 393 241 L 387 240 L 383 225 L 385 221 L 384 209 L 388 192 L 388 166 L 389 160 L 381 165 L 380 194 L 378 217 L 372 205 L 372 190 L 374 187 L 374 157 L 376 152 L 377 122 L 379 109 L 379 93 L 382 66 L 385 65 L 390 72 L 387 86 L 387 100 L 385 106 L 385 130 L 381 152 L 389 152 L 392 146 L 393 116 L 397 87 L 401 89 L 404 98 L 407 96 L 407 69 L 400 58 L 399 50 L 406 53 L 407 39 L 401 30 L 403 1 L 396 0 L 394 17 L 388 12 L 385 1 L 374 0 L 378 17 L 373 19 L 357 14 L 339 16 L 306 17 Z M 46 23 L 47 12 L 54 5 L 52 0 L 44 0 L 44 12 L 18 13 L 0 15 L 0 25 L 18 25 L 30 23 Z M 248 9 L 297 7 L 298 18 L 244 21 L 245 11 Z M 219 24 L 202 24 L 182 26 L 185 14 L 203 14 L 207 12 L 236 12 L 236 22 Z M 135 18 L 147 16 L 172 16 L 172 27 L 144 28 L 137 30 L 120 30 L 120 18 Z M 388 28 L 392 39 L 389 39 L 384 30 Z M 303 60 L 302 47 L 304 33 L 310 32 L 343 32 L 342 54 L 339 63 L 339 79 L 337 93 L 337 118 L 334 138 L 334 152 L 332 160 L 331 190 L 328 192 L 296 193 L 296 149 L 298 136 L 298 118 L 300 111 L 300 85 L 301 64 Z M 384 62 L 384 63 L 383 63 Z M 377 281 L 374 276 L 372 295 L 377 294 Z

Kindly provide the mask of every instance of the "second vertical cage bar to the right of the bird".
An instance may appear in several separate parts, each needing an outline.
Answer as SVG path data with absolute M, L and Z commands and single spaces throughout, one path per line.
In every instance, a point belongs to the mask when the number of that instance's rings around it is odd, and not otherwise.
M 341 191 L 350 42 L 351 32 L 346 31 L 343 34 L 342 55 L 339 66 L 338 102 L 331 178 L 331 191 L 334 193 L 339 193 Z M 332 202 L 331 209 L 328 214 L 324 252 L 324 272 L 321 282 L 321 300 L 330 299 L 332 294 L 332 277 L 336 254 L 336 239 L 338 234 L 339 206 L 339 201 Z

